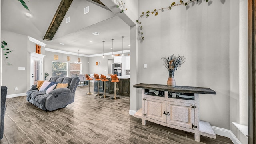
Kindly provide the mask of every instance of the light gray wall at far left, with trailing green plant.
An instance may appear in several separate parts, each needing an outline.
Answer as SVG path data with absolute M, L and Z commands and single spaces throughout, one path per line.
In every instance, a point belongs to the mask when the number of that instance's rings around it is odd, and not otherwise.
M 2 40 L 6 41 L 8 47 L 13 50 L 12 53 L 8 54 L 8 61 L 12 65 L 6 64 L 6 60 L 3 60 L 3 79 L 2 85 L 7 86 L 7 94 L 19 94 L 26 92 L 27 84 L 29 82 L 27 73 L 29 68 L 27 67 L 27 54 L 28 54 L 28 37 L 16 34 L 13 32 L 1 31 Z M 29 54 L 28 54 L 29 55 Z M 25 67 L 26 70 L 18 70 L 18 67 Z M 18 87 L 17 91 L 14 88 Z

